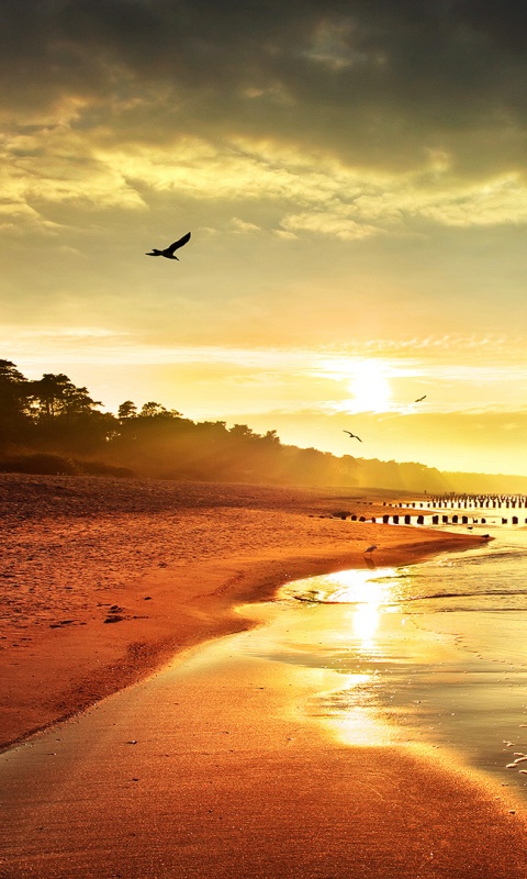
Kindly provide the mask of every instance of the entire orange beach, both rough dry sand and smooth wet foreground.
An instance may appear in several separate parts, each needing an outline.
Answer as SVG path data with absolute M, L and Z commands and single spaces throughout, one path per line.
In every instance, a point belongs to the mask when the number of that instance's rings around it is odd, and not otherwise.
M 204 667 L 198 690 L 183 674 L 173 702 L 181 652 L 254 624 L 236 605 L 365 567 L 373 543 L 377 564 L 392 566 L 481 541 L 328 518 L 384 511 L 352 493 L 0 477 L 3 744 L 121 691 L 69 732 L 3 755 L 0 875 L 527 875 L 525 820 L 505 791 L 427 753 L 326 741 L 289 713 L 304 688 L 294 666 L 258 670 L 258 686 Z

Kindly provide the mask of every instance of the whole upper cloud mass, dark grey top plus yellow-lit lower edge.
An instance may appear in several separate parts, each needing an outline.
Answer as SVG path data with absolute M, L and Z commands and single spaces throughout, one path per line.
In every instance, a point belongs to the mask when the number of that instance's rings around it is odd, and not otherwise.
M 43 231 L 46 204 L 155 193 L 272 200 L 284 241 L 524 224 L 524 20 L 483 0 L 4 0 L 2 193 Z

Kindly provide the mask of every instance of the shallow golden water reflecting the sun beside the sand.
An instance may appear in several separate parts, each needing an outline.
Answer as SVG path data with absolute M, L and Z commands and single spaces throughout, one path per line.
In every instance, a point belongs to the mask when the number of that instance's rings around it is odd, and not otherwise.
M 527 800 L 527 530 L 492 535 L 418 565 L 291 582 L 240 648 L 338 672 L 304 711 L 341 741 L 453 750 Z

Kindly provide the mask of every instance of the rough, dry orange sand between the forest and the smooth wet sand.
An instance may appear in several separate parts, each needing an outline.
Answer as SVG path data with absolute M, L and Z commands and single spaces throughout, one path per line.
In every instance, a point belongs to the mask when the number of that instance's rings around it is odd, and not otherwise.
M 291 579 L 401 565 L 470 535 L 343 521 L 360 491 L 0 475 L 0 745 L 250 625 L 238 603 Z

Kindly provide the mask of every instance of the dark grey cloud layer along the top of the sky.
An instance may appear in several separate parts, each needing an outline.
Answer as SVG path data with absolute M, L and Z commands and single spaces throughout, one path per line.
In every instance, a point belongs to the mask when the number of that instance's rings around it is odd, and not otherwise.
M 485 171 L 525 158 L 526 18 L 489 0 L 4 0 L 1 100 L 31 119 L 74 97 L 79 127 L 120 140 L 266 136 L 394 168 L 444 148 Z

